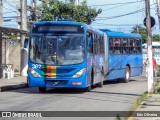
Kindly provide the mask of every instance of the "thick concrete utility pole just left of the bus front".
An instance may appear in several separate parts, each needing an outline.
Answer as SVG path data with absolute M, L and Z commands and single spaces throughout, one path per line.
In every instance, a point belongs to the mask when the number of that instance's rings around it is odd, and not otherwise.
M 27 30 L 27 0 L 20 0 L 21 1 L 21 24 L 20 28 L 21 30 Z M 26 52 L 24 49 L 24 40 L 25 40 L 25 35 L 21 34 L 21 76 L 27 76 L 27 59 L 26 59 Z

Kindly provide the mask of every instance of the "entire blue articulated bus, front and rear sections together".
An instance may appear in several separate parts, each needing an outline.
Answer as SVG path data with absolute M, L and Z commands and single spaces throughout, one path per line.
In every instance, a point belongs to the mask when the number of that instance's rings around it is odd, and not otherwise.
M 81 22 L 36 22 L 29 40 L 28 85 L 46 88 L 103 86 L 104 80 L 142 73 L 141 36 L 95 30 Z

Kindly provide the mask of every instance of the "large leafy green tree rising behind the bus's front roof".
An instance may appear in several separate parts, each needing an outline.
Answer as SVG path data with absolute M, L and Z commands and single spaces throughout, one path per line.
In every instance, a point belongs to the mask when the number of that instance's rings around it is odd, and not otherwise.
M 69 2 L 48 0 L 48 2 L 42 2 L 42 4 L 37 6 L 37 9 L 38 21 L 51 21 L 57 18 L 64 18 L 86 24 L 91 24 L 98 14 L 102 12 L 101 9 L 96 10 L 96 8 L 88 7 L 86 0 L 78 6 L 75 5 L 75 0 L 69 0 Z

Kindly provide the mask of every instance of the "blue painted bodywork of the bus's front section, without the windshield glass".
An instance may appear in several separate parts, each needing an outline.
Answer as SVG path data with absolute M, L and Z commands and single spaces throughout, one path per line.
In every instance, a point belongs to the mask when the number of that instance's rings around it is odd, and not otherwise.
M 35 26 L 43 26 L 43 25 L 80 25 L 81 27 L 84 28 L 84 33 L 51 33 L 51 32 L 43 32 L 43 33 L 34 33 L 32 31 Z M 46 31 L 46 28 L 44 28 Z M 59 29 L 59 28 L 56 28 Z M 79 29 L 79 28 L 78 28 Z M 41 30 L 41 29 L 40 29 Z M 53 29 L 52 29 L 53 30 Z M 35 30 L 38 31 L 38 30 Z M 31 87 L 51 87 L 51 88 L 86 88 L 91 85 L 91 72 L 93 69 L 93 54 L 88 53 L 88 48 L 87 48 L 87 31 L 93 31 L 99 34 L 99 36 L 103 36 L 103 32 L 101 31 L 95 31 L 93 28 L 90 26 L 80 23 L 80 22 L 73 22 L 73 21 L 47 21 L 47 22 L 36 22 L 32 25 L 31 28 L 31 38 L 30 38 L 30 47 L 29 47 L 29 60 L 28 60 L 28 84 Z M 34 39 L 35 42 L 38 41 L 38 39 L 41 39 L 42 36 L 45 36 L 45 39 L 57 39 L 57 41 L 60 43 L 62 42 L 61 38 L 63 37 L 77 37 L 81 36 L 84 38 L 84 60 L 83 62 L 77 63 L 77 64 L 64 64 L 64 65 L 52 65 L 52 64 L 45 64 L 45 63 L 39 63 L 36 62 L 36 60 L 31 60 L 31 56 L 34 56 L 35 52 L 32 52 L 32 50 L 35 45 L 33 44 Z M 56 38 L 57 37 L 57 38 Z M 58 38 L 59 37 L 59 38 Z M 61 38 L 60 38 L 61 37 Z M 69 38 L 68 37 L 68 38 Z M 38 38 L 38 39 L 37 39 Z M 69 38 L 70 39 L 70 38 Z M 47 41 L 47 40 L 44 40 Z M 49 41 L 50 42 L 50 41 Z M 57 43 L 58 43 L 57 42 Z M 67 43 L 67 42 L 66 42 Z M 40 44 L 41 46 L 41 44 Z M 63 48 L 62 48 L 63 49 Z M 60 49 L 61 50 L 61 49 Z M 69 51 L 69 50 L 68 50 Z M 70 50 L 71 51 L 71 50 Z M 70 54 L 71 55 L 71 54 Z M 77 57 L 75 55 L 75 57 Z M 100 58 L 103 58 L 104 56 L 102 55 L 96 55 L 96 62 L 97 67 L 101 68 L 101 64 L 99 65 Z M 103 61 L 102 61 L 103 62 Z M 103 64 L 103 63 L 102 63 Z M 78 71 L 85 69 L 84 73 L 82 76 L 78 78 L 74 78 L 73 76 L 75 73 Z M 34 76 L 35 74 L 35 76 Z M 97 80 L 97 82 L 99 82 Z

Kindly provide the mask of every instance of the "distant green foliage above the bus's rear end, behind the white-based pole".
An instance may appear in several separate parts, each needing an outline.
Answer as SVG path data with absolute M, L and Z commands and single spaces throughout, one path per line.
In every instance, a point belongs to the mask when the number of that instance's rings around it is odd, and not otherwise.
M 147 38 L 147 32 L 146 32 L 146 28 L 141 27 L 141 26 L 135 26 L 132 28 L 132 33 L 139 33 L 142 36 L 142 43 L 146 43 L 146 38 Z M 160 35 L 153 35 L 152 37 L 153 41 L 160 41 Z

